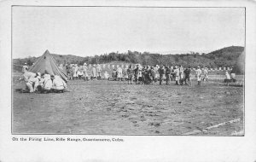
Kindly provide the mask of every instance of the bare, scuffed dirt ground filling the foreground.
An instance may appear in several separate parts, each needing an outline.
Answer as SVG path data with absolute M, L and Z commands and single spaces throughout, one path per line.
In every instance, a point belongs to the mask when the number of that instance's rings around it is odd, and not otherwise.
M 211 80 L 192 87 L 74 80 L 65 93 L 15 92 L 23 87 L 13 84 L 17 134 L 243 135 L 243 87 Z

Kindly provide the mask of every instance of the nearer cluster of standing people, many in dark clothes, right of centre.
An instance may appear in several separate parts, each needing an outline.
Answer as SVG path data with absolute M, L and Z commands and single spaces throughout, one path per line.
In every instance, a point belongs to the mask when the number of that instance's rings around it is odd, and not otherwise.
M 131 65 L 125 71 L 127 76 L 128 84 L 132 84 L 132 81 L 135 81 L 135 84 L 150 84 L 157 82 L 159 80 L 160 84 L 166 80 L 166 85 L 169 85 L 172 80 L 175 80 L 177 85 L 191 85 L 191 67 L 184 68 L 183 66 L 171 68 L 169 66 L 158 66 L 149 67 L 149 66 L 137 66 L 132 69 Z M 208 70 L 200 67 L 197 67 L 195 70 L 195 77 L 197 78 L 198 84 L 201 84 L 201 79 L 204 81 L 208 80 Z

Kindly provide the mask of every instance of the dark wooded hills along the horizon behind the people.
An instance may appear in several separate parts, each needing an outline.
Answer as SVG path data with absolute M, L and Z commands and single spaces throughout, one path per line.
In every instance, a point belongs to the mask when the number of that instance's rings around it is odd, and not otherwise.
M 237 58 L 244 50 L 241 46 L 230 46 L 218 49 L 208 54 L 190 53 L 182 55 L 160 55 L 156 53 L 137 52 L 128 50 L 126 53 L 112 52 L 104 55 L 80 57 L 75 55 L 56 55 L 53 54 L 58 64 L 76 63 L 102 64 L 112 61 L 124 61 L 127 63 L 140 63 L 142 65 L 169 65 L 169 66 L 190 66 L 190 67 L 233 67 L 236 65 Z M 42 53 L 43 55 L 43 53 Z M 25 62 L 32 65 L 38 58 L 28 57 L 25 59 L 14 59 L 13 63 L 23 65 Z

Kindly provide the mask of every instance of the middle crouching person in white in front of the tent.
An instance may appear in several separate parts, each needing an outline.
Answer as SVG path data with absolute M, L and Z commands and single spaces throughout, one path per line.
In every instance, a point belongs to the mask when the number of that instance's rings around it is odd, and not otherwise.
M 52 88 L 52 81 L 49 74 L 42 73 L 42 79 L 39 81 L 38 91 L 41 93 L 49 93 Z

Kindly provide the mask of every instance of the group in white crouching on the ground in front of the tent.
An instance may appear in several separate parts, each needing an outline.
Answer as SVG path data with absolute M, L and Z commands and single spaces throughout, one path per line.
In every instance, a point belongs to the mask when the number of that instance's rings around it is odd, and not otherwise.
M 24 80 L 26 84 L 26 88 L 22 92 L 49 93 L 64 92 L 67 89 L 66 82 L 60 76 L 46 73 L 41 74 L 40 72 L 28 72 L 27 66 L 22 68 L 22 72 L 23 75 L 19 80 Z

